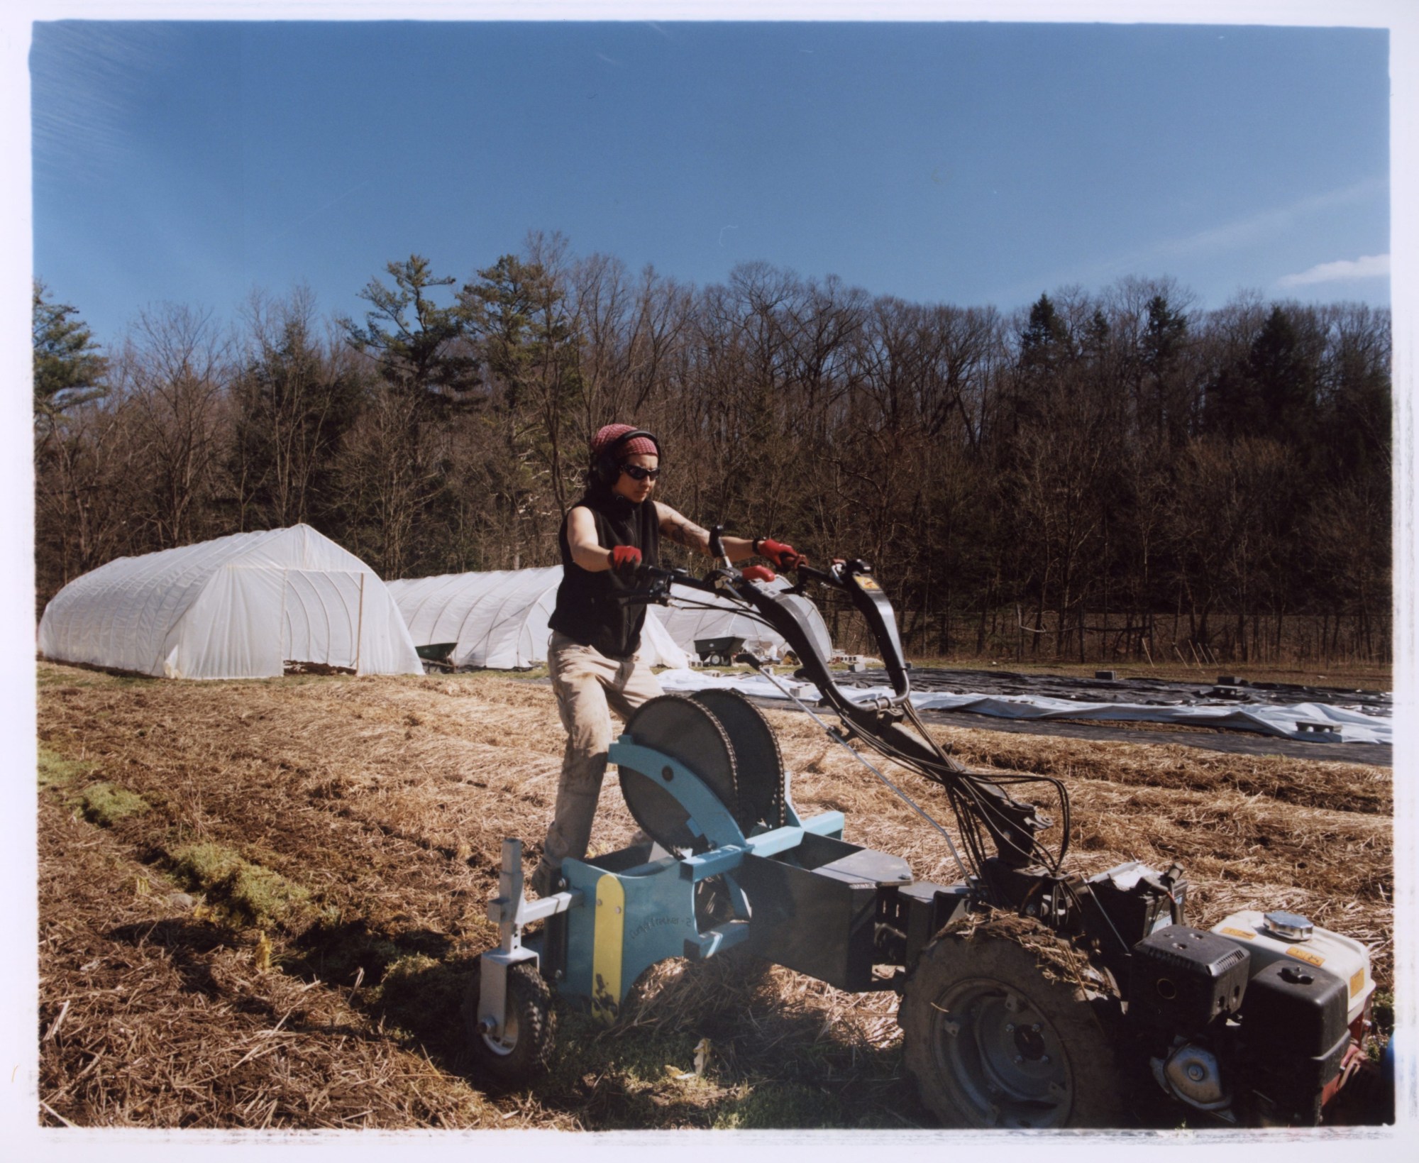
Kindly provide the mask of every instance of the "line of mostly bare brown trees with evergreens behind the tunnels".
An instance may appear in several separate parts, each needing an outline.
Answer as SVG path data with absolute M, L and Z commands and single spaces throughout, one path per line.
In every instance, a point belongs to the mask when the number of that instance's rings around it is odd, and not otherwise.
M 386 579 L 553 564 L 624 421 L 692 519 L 873 562 L 918 657 L 1391 657 L 1385 311 L 1125 278 L 1006 313 L 761 262 L 697 288 L 542 234 L 359 298 L 156 306 L 104 350 L 35 284 L 38 608 L 297 522 Z

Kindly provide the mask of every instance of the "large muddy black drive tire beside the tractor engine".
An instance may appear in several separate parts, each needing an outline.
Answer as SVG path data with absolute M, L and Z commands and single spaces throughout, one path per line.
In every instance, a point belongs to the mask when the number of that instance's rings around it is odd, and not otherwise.
M 900 1020 L 907 1071 L 944 1126 L 1125 1125 L 1124 1079 L 1095 1000 L 1046 977 L 1006 936 L 939 935 L 907 980 Z

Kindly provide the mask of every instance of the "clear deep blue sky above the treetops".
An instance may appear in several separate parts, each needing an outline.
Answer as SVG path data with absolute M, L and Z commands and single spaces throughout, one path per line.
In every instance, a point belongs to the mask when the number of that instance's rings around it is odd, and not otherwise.
M 101 342 L 162 301 L 329 313 L 529 230 L 1012 309 L 1171 275 L 1389 302 L 1384 28 L 1017 23 L 34 26 L 34 269 Z

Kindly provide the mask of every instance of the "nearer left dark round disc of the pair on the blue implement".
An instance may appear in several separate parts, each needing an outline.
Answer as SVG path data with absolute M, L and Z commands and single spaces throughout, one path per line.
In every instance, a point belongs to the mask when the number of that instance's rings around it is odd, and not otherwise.
M 640 746 L 685 764 L 731 813 L 739 803 L 729 735 L 707 708 L 684 695 L 660 695 L 641 703 L 626 723 Z M 626 807 L 646 834 L 666 848 L 694 848 L 690 813 L 658 779 L 622 764 Z M 738 814 L 738 813 L 735 813 Z

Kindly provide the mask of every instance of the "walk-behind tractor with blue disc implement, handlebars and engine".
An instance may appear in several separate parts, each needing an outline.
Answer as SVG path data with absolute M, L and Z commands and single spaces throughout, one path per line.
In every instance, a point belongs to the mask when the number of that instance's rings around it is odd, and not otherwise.
M 651 699 L 610 762 L 654 844 L 569 859 L 561 891 L 528 901 L 521 844 L 504 841 L 488 905 L 501 943 L 464 1003 L 490 1075 L 522 1085 L 545 1068 L 553 993 L 613 1023 L 650 966 L 734 947 L 841 990 L 900 994 L 907 1069 L 946 1126 L 1127 1126 L 1139 1078 L 1193 1126 L 1310 1126 L 1369 1069 L 1375 983 L 1362 945 L 1286 912 L 1196 929 L 1178 865 L 1069 874 L 1064 786 L 968 770 L 931 738 L 870 566 L 805 564 L 779 590 L 763 573 L 727 559 L 704 579 L 647 569 L 627 599 L 666 603 L 675 583 L 732 599 L 782 634 L 840 720 L 824 723 L 833 739 L 945 797 L 955 838 L 858 753 L 941 834 L 961 879 L 918 881 L 901 857 L 850 844 L 840 811 L 802 817 L 773 732 L 739 695 Z M 854 702 L 837 688 L 796 597 L 809 584 L 841 591 L 867 620 L 891 696 Z M 1020 798 L 1032 791 L 1059 813 L 1053 845 L 1042 840 L 1051 818 Z

